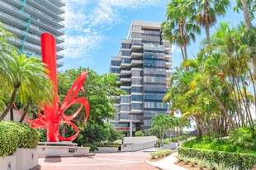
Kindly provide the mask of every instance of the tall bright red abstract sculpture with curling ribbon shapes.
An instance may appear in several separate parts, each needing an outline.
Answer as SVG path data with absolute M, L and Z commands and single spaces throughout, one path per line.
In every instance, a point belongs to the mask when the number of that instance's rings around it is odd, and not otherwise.
M 89 103 L 85 97 L 77 97 L 80 90 L 83 91 L 83 83 L 88 75 L 88 72 L 84 72 L 78 76 L 74 81 L 72 87 L 70 87 L 67 96 L 64 98 L 64 102 L 61 106 L 58 106 L 58 83 L 57 83 L 57 64 L 56 64 L 56 47 L 55 47 L 55 38 L 48 34 L 43 33 L 41 35 L 41 51 L 42 51 L 42 61 L 46 64 L 46 68 L 49 69 L 50 79 L 54 84 L 55 97 L 54 101 L 50 106 L 45 106 L 42 110 L 44 114 L 41 114 L 38 111 L 38 117 L 35 120 L 30 120 L 25 118 L 34 128 L 46 128 L 47 141 L 48 142 L 59 142 L 59 139 L 64 141 L 72 141 L 76 139 L 79 134 L 78 126 L 73 124 L 71 120 L 78 116 L 79 112 L 82 110 L 83 106 L 85 107 L 85 119 L 83 125 L 88 120 L 89 116 Z M 73 104 L 80 103 L 81 106 L 78 108 L 72 116 L 65 116 L 64 111 L 66 111 L 69 106 Z M 20 113 L 21 114 L 21 113 Z M 73 127 L 76 131 L 75 135 L 72 135 L 68 138 L 64 138 L 59 135 L 59 124 L 68 124 Z

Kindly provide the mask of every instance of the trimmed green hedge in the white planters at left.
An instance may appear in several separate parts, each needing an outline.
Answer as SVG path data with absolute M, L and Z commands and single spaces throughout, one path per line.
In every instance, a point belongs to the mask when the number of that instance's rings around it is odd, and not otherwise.
M 0 157 L 7 157 L 17 149 L 36 149 L 40 133 L 28 125 L 0 122 Z

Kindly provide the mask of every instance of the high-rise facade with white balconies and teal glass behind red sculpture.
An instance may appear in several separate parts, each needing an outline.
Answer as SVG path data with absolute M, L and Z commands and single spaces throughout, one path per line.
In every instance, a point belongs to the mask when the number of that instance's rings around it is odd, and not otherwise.
M 0 0 L 0 21 L 17 35 L 8 41 L 22 54 L 40 57 L 40 35 L 48 32 L 55 36 L 57 59 L 64 58 L 64 6 L 61 0 Z M 58 62 L 57 67 L 62 65 Z

